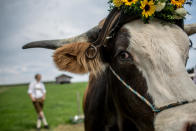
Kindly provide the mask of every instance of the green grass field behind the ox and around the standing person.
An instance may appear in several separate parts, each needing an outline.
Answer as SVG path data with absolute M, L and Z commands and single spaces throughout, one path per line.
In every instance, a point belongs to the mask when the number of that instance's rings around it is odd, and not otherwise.
M 77 114 L 76 93 L 80 93 L 82 103 L 86 86 L 87 83 L 46 84 L 44 112 L 51 130 L 63 128 L 61 125 L 68 123 Z M 0 87 L 0 131 L 32 130 L 36 119 L 35 110 L 27 95 L 27 85 Z

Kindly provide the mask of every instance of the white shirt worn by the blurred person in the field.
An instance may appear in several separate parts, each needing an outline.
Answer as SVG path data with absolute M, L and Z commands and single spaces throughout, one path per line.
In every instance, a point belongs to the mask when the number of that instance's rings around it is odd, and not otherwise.
M 46 93 L 45 86 L 42 82 L 31 82 L 29 84 L 28 94 L 31 94 L 34 98 L 39 99 Z

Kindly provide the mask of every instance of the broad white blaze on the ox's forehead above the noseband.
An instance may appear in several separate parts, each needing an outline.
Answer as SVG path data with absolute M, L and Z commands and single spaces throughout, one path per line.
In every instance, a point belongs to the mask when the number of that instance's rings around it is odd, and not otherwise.
M 149 24 L 135 20 L 124 28 L 131 36 L 128 51 L 147 81 L 155 106 L 196 100 L 196 86 L 185 69 L 189 51 L 185 32 L 177 25 L 158 20 Z

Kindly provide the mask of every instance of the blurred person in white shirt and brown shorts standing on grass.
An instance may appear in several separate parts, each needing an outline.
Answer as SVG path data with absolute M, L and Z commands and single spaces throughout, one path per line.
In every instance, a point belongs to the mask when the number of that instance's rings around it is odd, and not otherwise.
M 37 112 L 37 130 L 41 129 L 41 122 L 43 121 L 44 128 L 49 129 L 47 120 L 44 116 L 43 107 L 46 98 L 46 89 L 44 84 L 41 82 L 41 75 L 35 75 L 35 81 L 29 84 L 28 89 L 29 97 L 31 98 L 35 110 Z

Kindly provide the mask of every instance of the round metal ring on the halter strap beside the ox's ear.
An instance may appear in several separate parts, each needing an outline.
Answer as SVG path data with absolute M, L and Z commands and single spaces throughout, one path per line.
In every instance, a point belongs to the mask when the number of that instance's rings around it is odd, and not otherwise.
M 85 52 L 85 55 L 88 59 L 92 60 L 97 56 L 97 47 L 95 45 L 90 45 Z M 90 54 L 89 54 L 90 53 Z M 92 53 L 92 54 L 91 54 Z

